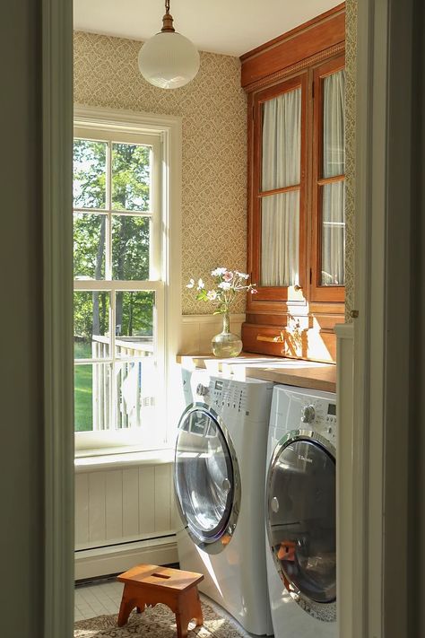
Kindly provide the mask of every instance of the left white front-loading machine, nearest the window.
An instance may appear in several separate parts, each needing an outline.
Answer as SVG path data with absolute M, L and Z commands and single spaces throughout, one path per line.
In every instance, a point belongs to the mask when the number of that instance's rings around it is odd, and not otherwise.
M 186 398 L 198 380 L 176 441 L 180 567 L 203 573 L 199 589 L 248 632 L 272 634 L 264 482 L 273 383 L 196 372 L 191 382 L 186 374 Z

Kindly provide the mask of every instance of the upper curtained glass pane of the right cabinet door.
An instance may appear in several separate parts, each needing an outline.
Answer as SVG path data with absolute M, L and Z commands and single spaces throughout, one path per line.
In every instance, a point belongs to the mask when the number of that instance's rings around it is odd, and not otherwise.
M 345 71 L 328 75 L 323 81 L 323 177 L 345 172 Z

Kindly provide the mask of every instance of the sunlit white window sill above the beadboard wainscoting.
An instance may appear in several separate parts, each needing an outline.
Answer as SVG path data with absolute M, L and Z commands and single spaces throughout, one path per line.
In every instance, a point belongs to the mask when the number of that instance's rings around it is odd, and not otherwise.
M 74 459 L 76 473 L 92 472 L 100 469 L 132 468 L 140 465 L 161 465 L 172 463 L 174 448 L 147 450 L 144 452 L 124 452 L 116 454 L 99 454 Z

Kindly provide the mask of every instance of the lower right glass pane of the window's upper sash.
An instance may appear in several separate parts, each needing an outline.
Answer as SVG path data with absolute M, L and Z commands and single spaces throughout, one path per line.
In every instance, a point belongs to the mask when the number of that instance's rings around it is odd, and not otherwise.
M 112 278 L 149 279 L 151 222 L 147 217 L 112 217 Z

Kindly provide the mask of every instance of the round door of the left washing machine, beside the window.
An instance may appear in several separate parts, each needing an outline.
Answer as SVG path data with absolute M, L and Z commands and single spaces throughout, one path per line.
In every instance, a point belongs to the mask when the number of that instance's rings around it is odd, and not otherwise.
M 230 542 L 240 506 L 238 461 L 210 406 L 188 406 L 178 424 L 174 465 L 178 511 L 197 546 L 216 554 Z

